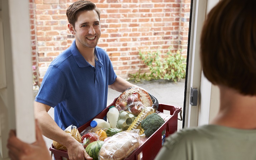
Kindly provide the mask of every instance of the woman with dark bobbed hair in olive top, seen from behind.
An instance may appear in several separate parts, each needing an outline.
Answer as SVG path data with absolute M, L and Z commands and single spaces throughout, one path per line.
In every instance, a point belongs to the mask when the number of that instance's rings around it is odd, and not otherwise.
M 155 160 L 256 159 L 255 8 L 255 0 L 221 0 L 208 14 L 201 61 L 220 89 L 218 115 L 209 125 L 169 136 Z

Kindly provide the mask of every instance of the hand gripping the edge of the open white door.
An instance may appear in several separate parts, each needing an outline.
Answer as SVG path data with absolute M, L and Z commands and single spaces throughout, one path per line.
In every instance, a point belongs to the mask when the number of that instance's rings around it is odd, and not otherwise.
M 7 147 L 12 160 L 52 160 L 37 121 L 35 124 L 37 140 L 33 144 L 21 141 L 16 137 L 14 130 L 10 131 Z

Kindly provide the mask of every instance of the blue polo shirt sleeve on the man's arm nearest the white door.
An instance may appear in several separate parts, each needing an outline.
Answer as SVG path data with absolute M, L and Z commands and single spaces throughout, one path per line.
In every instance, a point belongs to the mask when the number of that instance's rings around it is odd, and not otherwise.
M 63 72 L 55 66 L 49 66 L 35 101 L 55 107 L 64 100 L 66 93 L 67 83 Z

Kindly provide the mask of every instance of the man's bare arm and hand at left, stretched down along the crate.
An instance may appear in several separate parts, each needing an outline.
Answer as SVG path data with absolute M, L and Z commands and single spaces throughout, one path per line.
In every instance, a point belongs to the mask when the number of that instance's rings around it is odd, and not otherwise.
M 66 134 L 66 132 L 57 125 L 47 113 L 49 110 L 50 106 L 34 102 L 35 118 L 38 119 L 43 135 L 66 146 L 70 160 L 84 160 L 84 157 L 87 160 L 92 160 L 84 150 L 83 146 L 72 136 Z

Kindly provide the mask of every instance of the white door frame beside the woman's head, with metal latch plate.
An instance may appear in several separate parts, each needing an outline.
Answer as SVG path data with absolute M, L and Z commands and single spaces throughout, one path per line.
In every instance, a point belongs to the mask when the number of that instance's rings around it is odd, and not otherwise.
M 202 73 L 199 43 L 206 14 L 219 0 L 193 1 L 189 40 L 187 90 L 185 98 L 184 127 L 208 124 L 219 108 L 219 90 Z M 190 88 L 198 90 L 197 105 L 190 105 Z

